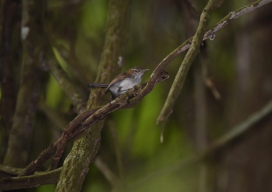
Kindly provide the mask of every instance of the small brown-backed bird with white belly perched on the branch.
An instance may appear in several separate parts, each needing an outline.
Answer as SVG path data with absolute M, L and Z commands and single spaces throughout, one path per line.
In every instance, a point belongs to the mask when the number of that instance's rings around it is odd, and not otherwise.
M 139 85 L 142 80 L 142 75 L 149 69 L 133 67 L 126 72 L 117 75 L 110 84 L 107 83 L 90 83 L 87 84 L 90 88 L 107 87 L 106 91 L 111 91 L 114 97 L 119 97 L 126 91 L 130 90 L 135 85 Z

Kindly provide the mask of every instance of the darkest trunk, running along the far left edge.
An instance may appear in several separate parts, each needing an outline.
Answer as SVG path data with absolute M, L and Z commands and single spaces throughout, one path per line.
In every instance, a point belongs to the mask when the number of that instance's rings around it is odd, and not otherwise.
M 20 2 L 6 0 L 0 2 L 0 116 L 2 117 L 0 121 L 0 162 L 3 161 L 7 149 L 16 104 L 13 68 L 14 63 L 18 61 L 14 61 L 14 52 L 11 50 L 11 45 L 14 43 L 14 39 L 19 40 L 19 37 L 12 38 L 12 34 L 16 31 L 14 26 L 20 22 L 20 18 L 16 17 L 20 12 L 20 7 Z

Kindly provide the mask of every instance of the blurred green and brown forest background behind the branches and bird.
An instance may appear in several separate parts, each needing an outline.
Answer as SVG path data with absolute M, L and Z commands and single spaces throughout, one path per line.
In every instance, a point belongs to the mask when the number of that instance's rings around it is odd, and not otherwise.
M 209 26 L 252 2 L 224 2 L 213 12 Z M 206 3 L 191 1 L 195 21 Z M 47 33 L 55 56 L 85 99 L 91 91 L 86 83 L 96 78 L 108 8 L 106 0 L 47 1 Z M 164 57 L 191 37 L 184 9 L 182 0 L 132 2 L 122 72 L 133 66 L 149 68 L 143 76 L 147 80 Z M 156 119 L 185 53 L 166 68 L 170 77 L 157 84 L 136 107 L 107 116 L 100 149 L 81 191 L 113 188 L 99 168 L 100 162 L 119 175 L 129 191 L 272 191 L 272 114 L 205 158 L 194 158 L 272 98 L 271 10 L 269 3 L 245 14 L 216 32 L 213 41 L 204 42 L 165 123 L 163 143 L 161 124 L 156 124 Z M 14 22 L 13 28 L 11 63 L 18 89 L 20 24 Z M 71 101 L 50 72 L 42 79 L 29 161 L 56 141 L 76 116 Z M 0 120 L 3 127 L 3 117 Z M 5 151 L 5 134 L 2 130 L 1 152 Z M 65 155 L 71 146 L 72 142 Z M 54 191 L 55 187 L 46 185 L 29 191 Z

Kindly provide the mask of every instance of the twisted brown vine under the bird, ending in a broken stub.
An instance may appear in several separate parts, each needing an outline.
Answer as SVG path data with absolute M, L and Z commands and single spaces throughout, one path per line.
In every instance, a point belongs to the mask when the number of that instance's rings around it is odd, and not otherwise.
M 165 78 L 165 72 L 161 73 L 161 76 L 157 79 L 156 83 L 153 85 L 153 88 L 155 85 Z M 40 156 L 22 171 L 22 173 L 19 176 L 26 176 L 33 174 L 35 170 L 41 166 L 47 159 L 49 159 L 57 150 L 57 147 L 59 145 L 62 145 L 64 143 L 67 143 L 71 141 L 71 139 L 78 136 L 82 131 L 89 128 L 99 120 L 106 117 L 109 113 L 120 109 L 120 108 L 131 108 L 135 106 L 140 100 L 144 97 L 144 95 L 147 95 L 150 93 L 152 89 L 145 90 L 143 92 L 143 88 L 147 85 L 147 81 L 143 82 L 142 84 L 138 86 L 134 86 L 131 90 L 127 91 L 125 94 L 121 95 L 114 101 L 111 101 L 107 105 L 104 105 L 103 107 L 97 107 L 91 110 L 87 110 L 84 113 L 80 114 L 75 118 L 63 131 L 62 137 L 58 139 L 54 144 L 50 145 L 46 150 L 44 150 Z M 137 96 L 135 99 L 133 99 L 135 96 Z M 130 101 L 133 99 L 132 101 Z

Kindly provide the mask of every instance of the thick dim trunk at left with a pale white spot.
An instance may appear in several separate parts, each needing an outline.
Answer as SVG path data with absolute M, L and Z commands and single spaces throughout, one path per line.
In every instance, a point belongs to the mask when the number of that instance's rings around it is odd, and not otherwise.
M 39 7 L 40 11 L 35 11 Z M 3 164 L 24 167 L 28 160 L 42 72 L 43 13 L 41 2 L 22 1 L 23 63 L 16 108 Z

